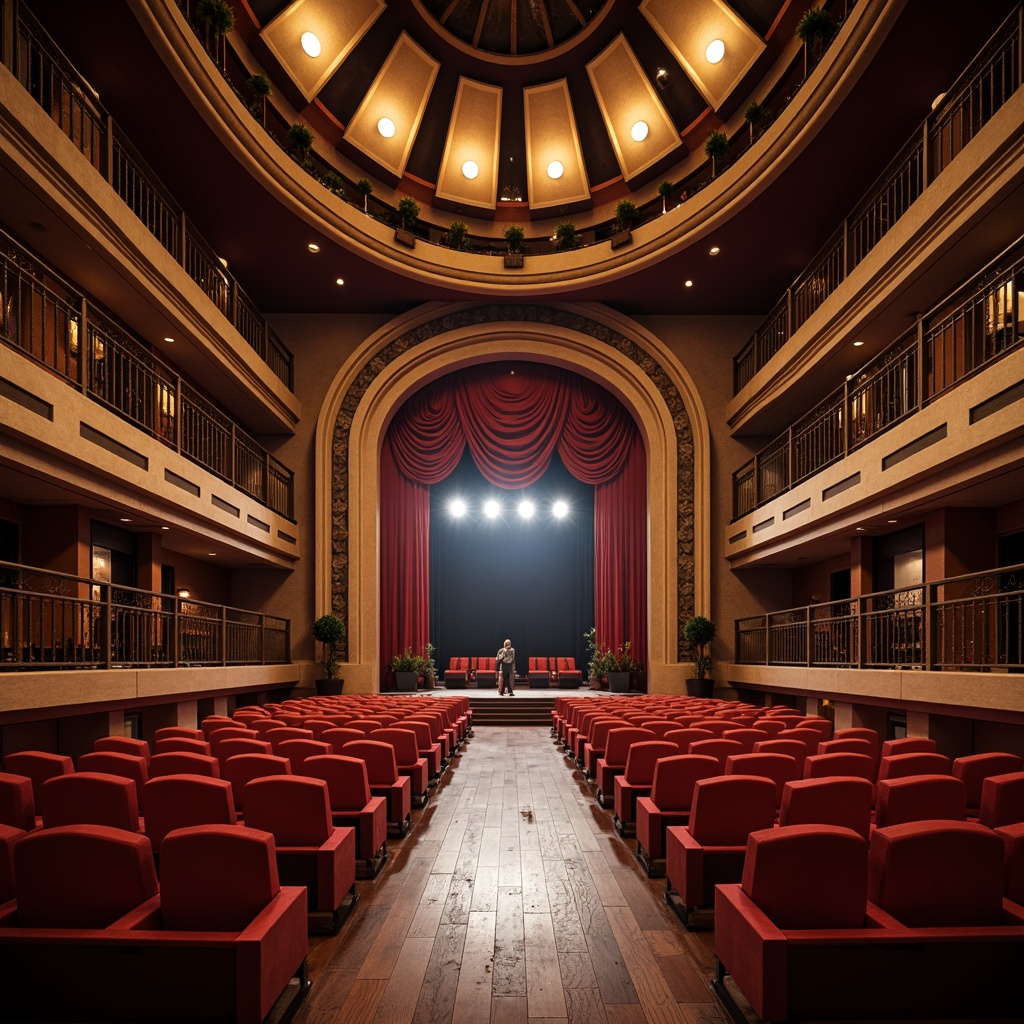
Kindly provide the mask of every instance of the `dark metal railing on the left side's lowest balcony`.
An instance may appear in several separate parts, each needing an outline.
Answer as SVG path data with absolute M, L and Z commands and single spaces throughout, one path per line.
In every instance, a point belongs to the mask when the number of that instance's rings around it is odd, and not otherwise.
M 0 672 L 287 665 L 291 622 L 0 562 Z

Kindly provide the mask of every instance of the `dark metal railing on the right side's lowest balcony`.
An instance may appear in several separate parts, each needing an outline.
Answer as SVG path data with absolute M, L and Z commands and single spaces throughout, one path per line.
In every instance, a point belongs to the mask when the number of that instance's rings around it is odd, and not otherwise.
M 1024 668 L 1024 565 L 735 623 L 736 664 L 964 672 Z

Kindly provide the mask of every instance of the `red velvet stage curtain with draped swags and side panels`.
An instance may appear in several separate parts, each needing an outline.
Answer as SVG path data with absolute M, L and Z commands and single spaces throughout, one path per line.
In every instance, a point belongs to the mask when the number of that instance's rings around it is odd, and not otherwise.
M 629 413 L 603 388 L 541 364 L 487 364 L 441 378 L 398 411 L 381 455 L 381 664 L 430 639 L 430 485 L 466 445 L 495 486 L 536 483 L 557 451 L 594 490 L 598 639 L 646 663 L 647 473 Z

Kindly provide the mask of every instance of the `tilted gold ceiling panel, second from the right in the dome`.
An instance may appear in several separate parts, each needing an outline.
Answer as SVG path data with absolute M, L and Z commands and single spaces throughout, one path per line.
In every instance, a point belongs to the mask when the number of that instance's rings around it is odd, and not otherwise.
M 667 157 L 679 134 L 657 92 L 643 73 L 626 37 L 620 35 L 589 65 L 587 74 L 601 108 L 604 127 L 627 181 Z M 636 141 L 633 126 L 642 121 L 646 138 Z

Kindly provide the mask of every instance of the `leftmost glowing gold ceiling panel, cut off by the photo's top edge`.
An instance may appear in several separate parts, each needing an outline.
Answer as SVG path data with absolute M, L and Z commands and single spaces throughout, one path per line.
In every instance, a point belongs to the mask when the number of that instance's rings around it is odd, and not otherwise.
M 312 102 L 386 6 L 384 0 L 295 0 L 261 30 L 260 37 L 306 101 Z M 302 49 L 304 32 L 319 40 L 319 56 L 310 57 Z

